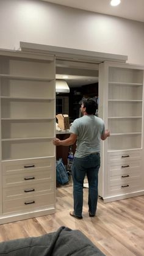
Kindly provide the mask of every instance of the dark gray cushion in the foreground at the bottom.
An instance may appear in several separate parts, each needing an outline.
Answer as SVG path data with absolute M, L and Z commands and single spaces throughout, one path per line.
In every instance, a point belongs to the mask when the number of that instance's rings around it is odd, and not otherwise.
M 57 232 L 0 243 L 1 256 L 104 256 L 79 230 L 60 227 Z

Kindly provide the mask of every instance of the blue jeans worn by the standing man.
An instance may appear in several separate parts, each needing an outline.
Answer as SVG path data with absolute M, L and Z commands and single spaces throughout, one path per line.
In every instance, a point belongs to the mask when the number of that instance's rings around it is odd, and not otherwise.
M 72 166 L 74 214 L 82 216 L 84 178 L 88 180 L 88 210 L 96 213 L 98 202 L 98 171 L 100 167 L 99 153 L 84 158 L 74 157 Z

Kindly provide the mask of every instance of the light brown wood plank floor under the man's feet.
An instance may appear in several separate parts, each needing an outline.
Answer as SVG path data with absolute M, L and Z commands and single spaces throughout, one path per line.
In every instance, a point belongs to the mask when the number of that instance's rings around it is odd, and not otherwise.
M 0 225 L 0 241 L 40 236 L 63 225 L 81 230 L 107 256 L 144 255 L 144 196 L 110 203 L 99 199 L 96 217 L 89 218 L 85 188 L 83 219 L 77 220 L 69 214 L 73 187 L 57 188 L 56 192 L 55 214 Z

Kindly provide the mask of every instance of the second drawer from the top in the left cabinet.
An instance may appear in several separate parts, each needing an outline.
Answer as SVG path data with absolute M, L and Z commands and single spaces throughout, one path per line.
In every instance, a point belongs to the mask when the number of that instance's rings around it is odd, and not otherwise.
M 29 171 L 20 175 L 5 175 L 2 177 L 2 186 L 7 188 L 10 186 L 33 186 L 44 181 L 54 180 L 54 170 L 42 170 L 31 174 Z

